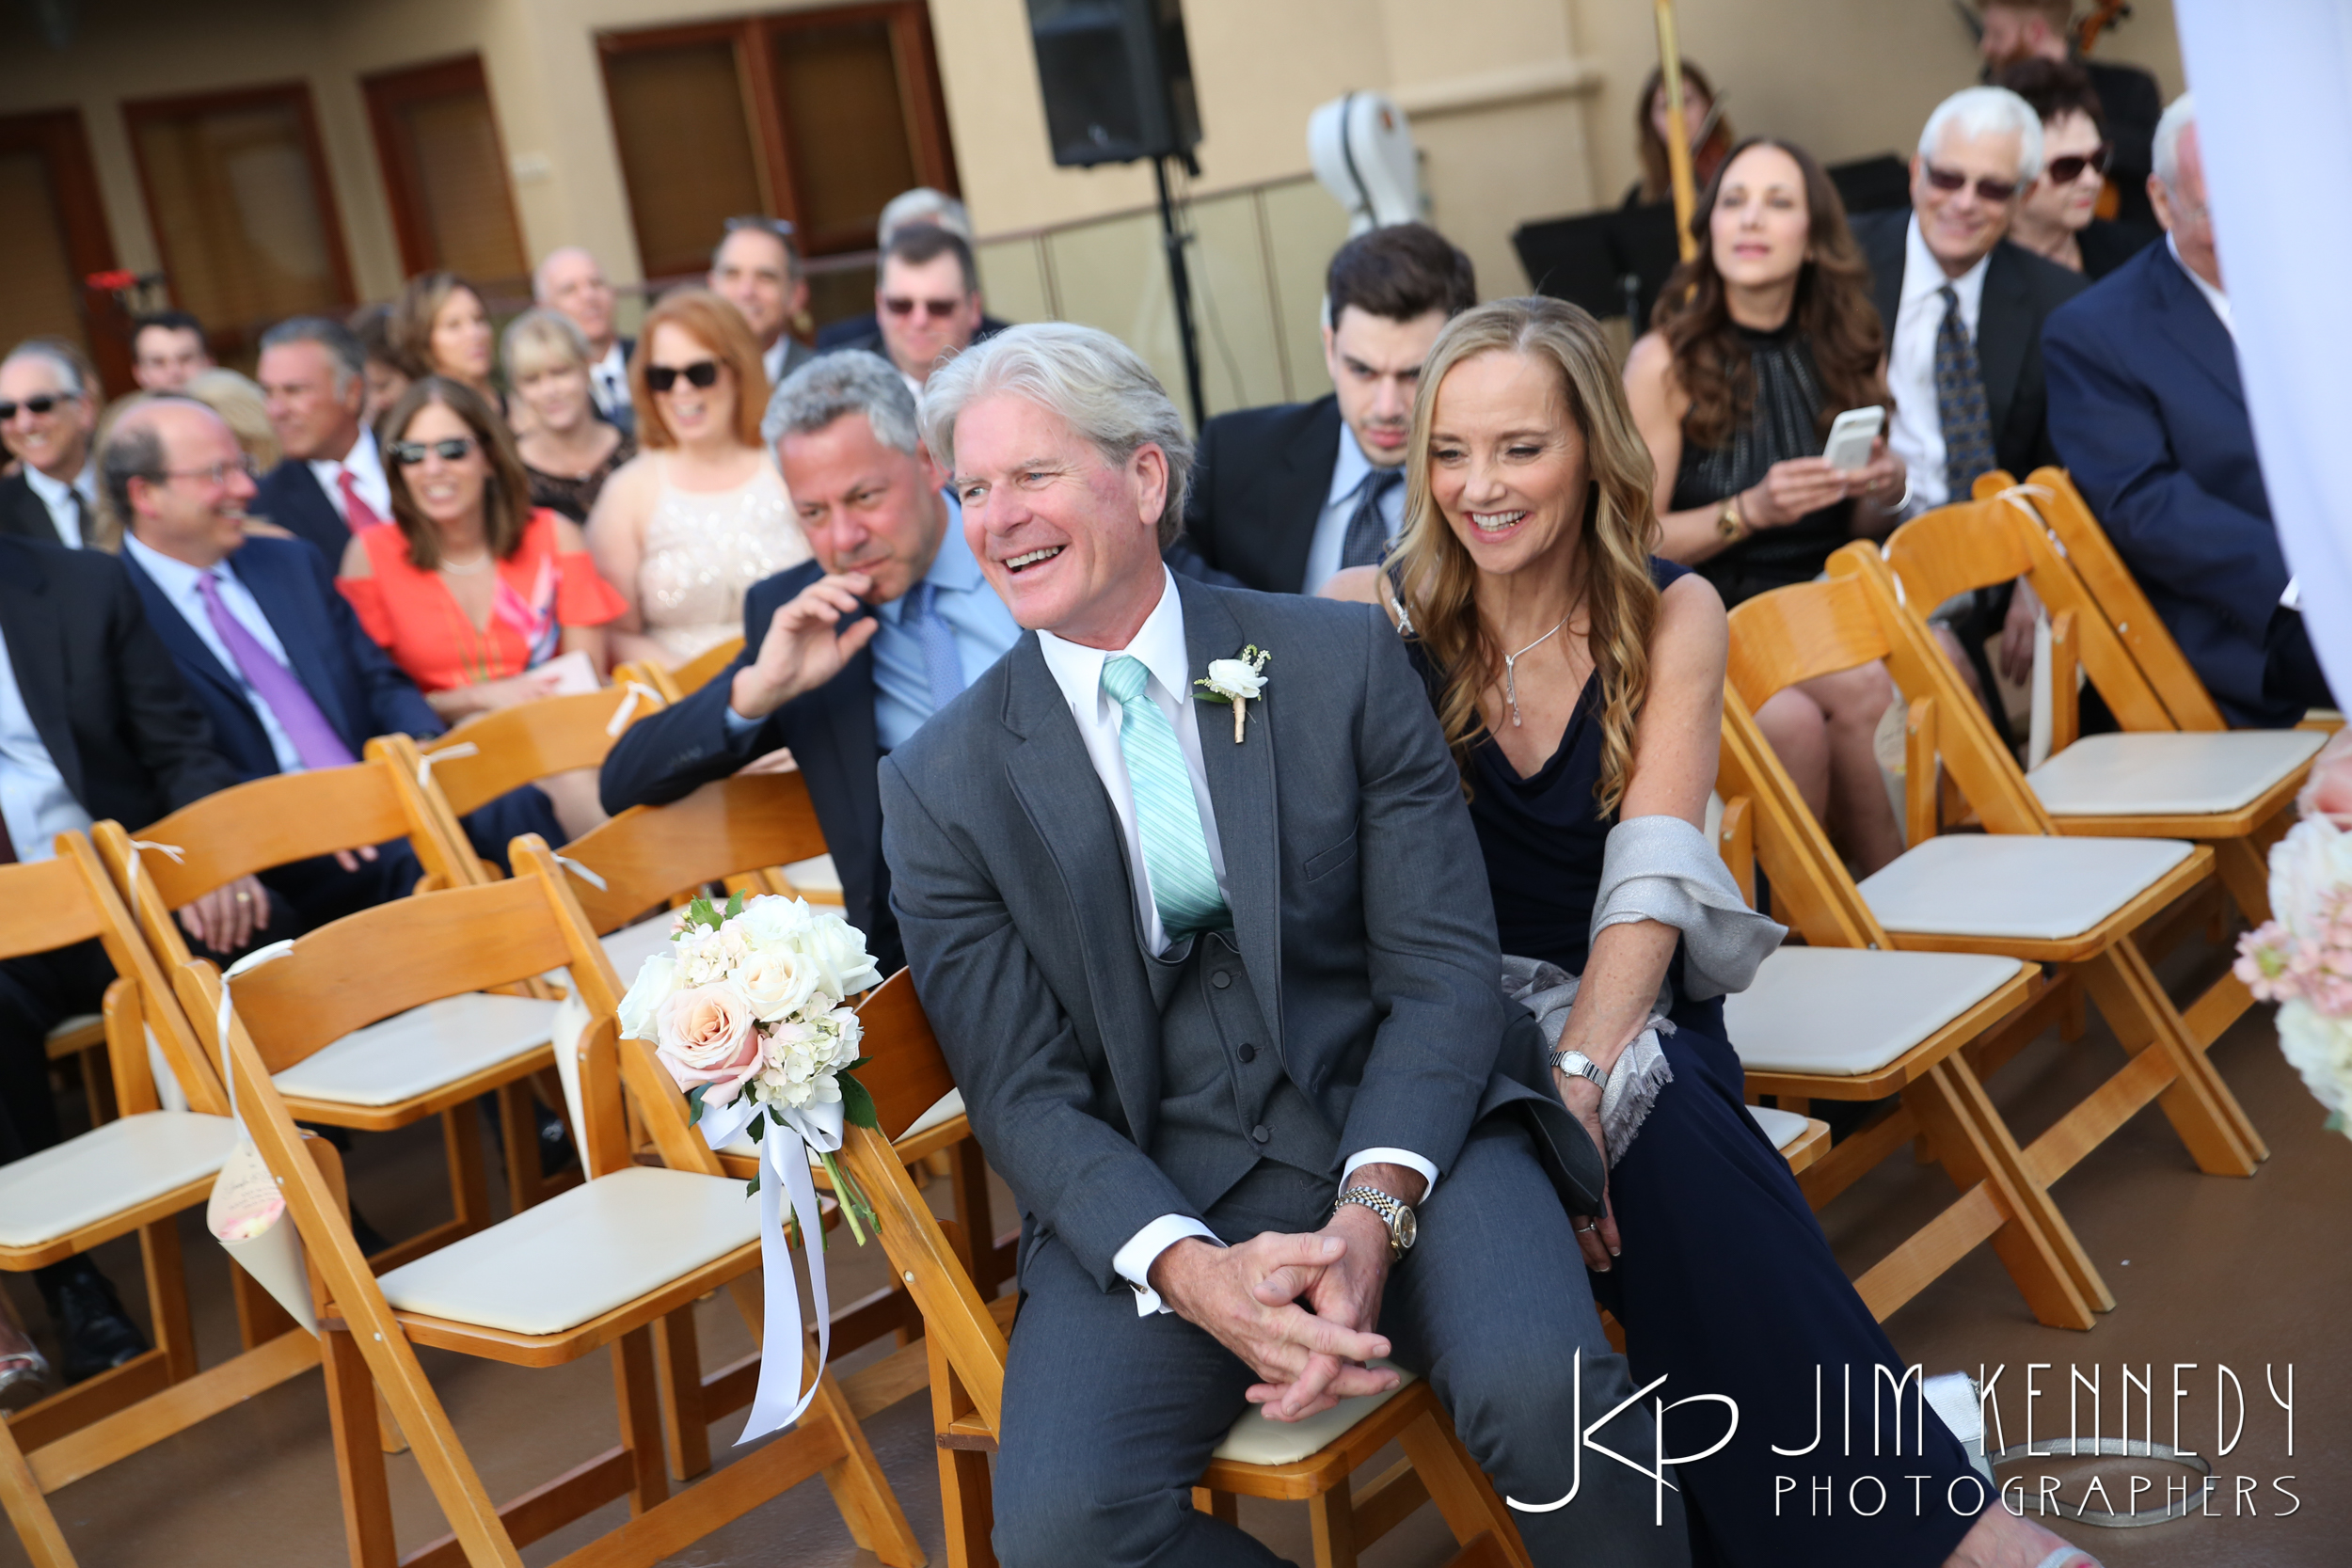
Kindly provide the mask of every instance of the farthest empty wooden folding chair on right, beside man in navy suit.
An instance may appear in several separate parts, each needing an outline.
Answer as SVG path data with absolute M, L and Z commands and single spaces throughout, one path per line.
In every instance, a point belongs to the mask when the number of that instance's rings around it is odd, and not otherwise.
M 2053 698 L 2051 757 L 2023 773 L 2042 811 L 2037 830 L 2211 844 L 2220 886 L 2246 924 L 2270 919 L 2270 846 L 2293 827 L 2296 792 L 2326 736 L 2300 729 L 2183 731 L 2084 585 L 2077 555 L 2060 550 L 2030 498 L 1992 484 L 1978 484 L 1978 501 L 1936 508 L 1896 529 L 1884 548 L 1884 569 L 1863 576 L 1875 590 L 1891 588 L 1900 614 L 1910 616 L 1917 616 L 1915 607 L 2016 576 L 2032 583 L 2051 616 Z M 1853 562 L 1863 564 L 1860 552 Z M 2154 646 L 2157 637 L 2140 637 L 2140 644 Z M 2114 712 L 2119 733 L 2077 738 L 2077 668 Z M 1938 795 L 1933 769 L 1905 776 L 1912 842 L 1936 832 Z M 2150 957 L 2161 957 L 2164 938 L 2178 931 L 2176 922 L 2171 931 L 2154 933 Z M 2253 994 L 2246 985 L 2223 973 L 2187 1009 L 2197 1046 L 2220 1039 L 2249 1006 Z

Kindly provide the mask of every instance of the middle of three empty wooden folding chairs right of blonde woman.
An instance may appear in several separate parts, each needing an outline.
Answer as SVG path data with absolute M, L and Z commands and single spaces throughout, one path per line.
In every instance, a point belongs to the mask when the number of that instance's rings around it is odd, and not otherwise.
M 1884 933 L 1896 950 L 2056 966 L 2056 994 L 1969 1048 L 1978 1077 L 2025 1048 L 2074 987 L 2089 992 L 2131 1060 L 2025 1147 L 2027 1194 L 2046 1194 L 2150 1100 L 2164 1107 L 2201 1171 L 2251 1175 L 2267 1147 L 2136 943 L 2143 926 L 2213 877 L 2213 851 L 2171 839 L 2056 837 L 1933 635 L 1896 604 L 1877 548 L 1846 545 L 1830 557 L 1830 571 L 1828 581 L 1776 588 L 1731 611 L 1729 689 L 1755 712 L 1783 686 L 1884 661 L 1910 701 L 1907 771 L 1926 776 L 1940 762 L 1987 827 L 1926 837 L 1863 879 L 1853 889 L 1856 910 L 1844 914 L 1851 936 L 1842 945 L 1867 947 Z M 1769 750 L 1762 741 L 1755 750 L 1762 769 Z M 1797 900 L 1788 917 L 1799 929 L 1809 917 L 1835 917 L 1806 910 L 1802 882 L 1783 893 L 1776 877 L 1773 893 L 1776 912 L 1783 896 Z M 1860 924 L 1863 912 L 1877 933 Z M 2058 1246 L 2082 1300 L 2110 1305 L 2082 1248 L 2063 1246 L 2051 1225 L 2039 1229 Z

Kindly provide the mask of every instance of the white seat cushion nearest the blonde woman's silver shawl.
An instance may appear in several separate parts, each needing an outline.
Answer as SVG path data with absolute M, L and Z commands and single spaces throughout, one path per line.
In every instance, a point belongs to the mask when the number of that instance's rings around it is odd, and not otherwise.
M 1780 947 L 1748 990 L 1724 997 L 1724 1032 L 1752 1072 L 1860 1077 L 1966 1013 L 2020 969 L 2018 959 L 1976 952 Z

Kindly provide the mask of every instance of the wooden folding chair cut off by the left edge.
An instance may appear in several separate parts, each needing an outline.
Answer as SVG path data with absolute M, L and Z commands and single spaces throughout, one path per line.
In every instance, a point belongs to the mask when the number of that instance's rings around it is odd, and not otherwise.
M 0 865 L 0 957 L 103 945 L 118 976 L 103 1030 L 122 1114 L 0 1166 L 0 1269 L 38 1269 L 139 1232 L 155 1349 L 0 1422 L 0 1505 L 35 1568 L 73 1568 L 47 1493 L 318 1363 L 318 1340 L 245 1269 L 230 1269 L 242 1352 L 198 1371 L 179 1213 L 212 1194 L 235 1121 L 89 839 L 68 832 L 56 846 L 54 860 Z M 162 1110 L 151 1032 L 191 1110 Z

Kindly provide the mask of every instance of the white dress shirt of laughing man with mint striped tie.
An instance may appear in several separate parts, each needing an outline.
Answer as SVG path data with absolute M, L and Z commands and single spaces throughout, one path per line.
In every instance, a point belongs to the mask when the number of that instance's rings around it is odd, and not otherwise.
M 1350 440 L 1348 444 L 1352 447 L 1355 442 Z M 1216 806 L 1209 802 L 1209 769 L 1200 755 L 1192 658 L 1183 637 L 1183 597 L 1176 592 L 1176 578 L 1164 567 L 1160 569 L 1160 604 L 1152 607 L 1152 614 L 1145 616 L 1134 642 L 1124 649 L 1089 649 L 1065 642 L 1054 632 L 1037 632 L 1037 651 L 1044 654 L 1044 668 L 1070 703 L 1070 717 L 1077 719 L 1077 733 L 1087 743 L 1087 759 L 1094 764 L 1094 776 L 1103 780 L 1110 809 L 1120 818 L 1120 844 L 1127 851 L 1129 882 L 1136 889 L 1136 917 L 1143 922 L 1143 940 L 1150 943 L 1155 954 L 1169 950 L 1169 933 L 1160 924 L 1160 903 L 1152 898 L 1150 867 L 1143 863 L 1143 830 L 1136 825 L 1136 792 L 1127 780 L 1127 752 L 1120 750 L 1120 726 L 1127 712 L 1103 691 L 1103 661 L 1127 654 L 1143 661 L 1143 668 L 1150 672 L 1143 682 L 1143 696 L 1157 703 L 1160 712 L 1176 729 L 1176 750 L 1183 752 L 1185 776 L 1192 780 L 1192 802 L 1200 806 L 1200 827 L 1209 839 L 1209 870 L 1216 872 L 1216 891 L 1228 903 L 1232 898 L 1225 884 L 1225 849 L 1216 837 Z M 1437 1166 L 1418 1154 L 1406 1150 L 1359 1150 L 1348 1159 L 1341 1187 L 1348 1185 L 1357 1166 L 1369 1164 L 1409 1166 L 1421 1171 L 1428 1182 L 1437 1182 Z M 1160 1253 L 1185 1237 L 1216 1241 L 1216 1232 L 1192 1215 L 1169 1213 L 1138 1229 L 1129 1237 L 1127 1246 L 1112 1253 L 1110 1267 L 1136 1288 L 1136 1316 L 1169 1312 L 1160 1293 L 1150 1286 L 1150 1269 L 1160 1260 Z M 1218 1246 L 1223 1244 L 1218 1241 Z

